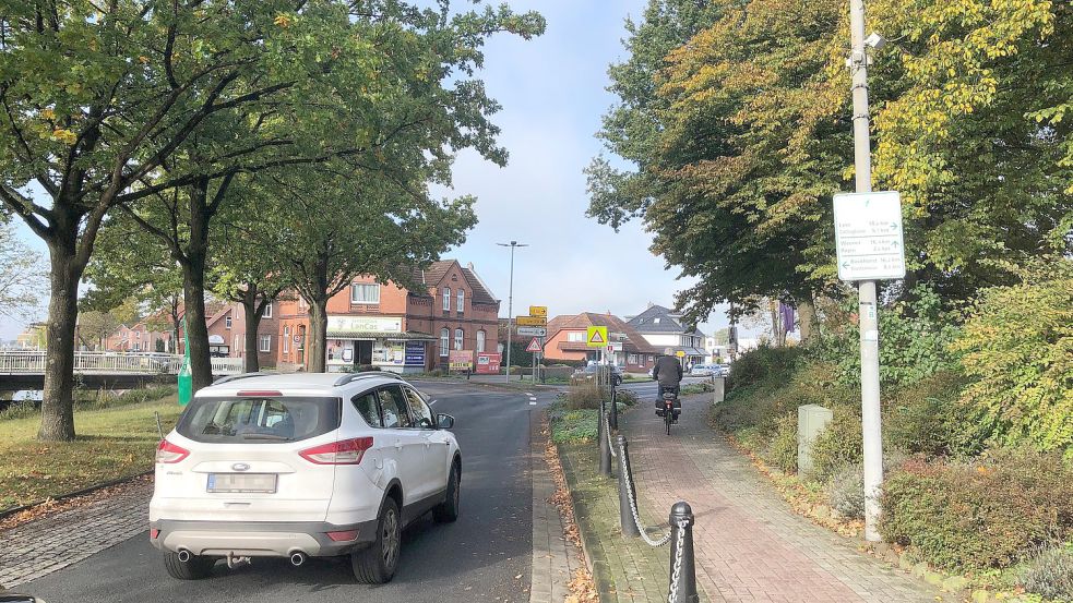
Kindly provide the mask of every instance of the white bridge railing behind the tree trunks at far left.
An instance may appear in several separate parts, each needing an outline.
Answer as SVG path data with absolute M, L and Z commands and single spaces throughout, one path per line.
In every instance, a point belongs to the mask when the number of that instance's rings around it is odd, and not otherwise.
M 242 371 L 241 358 L 212 359 L 213 374 L 225 375 Z M 75 373 L 139 373 L 176 375 L 182 367 L 182 357 L 168 353 L 74 352 Z M 45 373 L 44 350 L 0 351 L 0 375 Z

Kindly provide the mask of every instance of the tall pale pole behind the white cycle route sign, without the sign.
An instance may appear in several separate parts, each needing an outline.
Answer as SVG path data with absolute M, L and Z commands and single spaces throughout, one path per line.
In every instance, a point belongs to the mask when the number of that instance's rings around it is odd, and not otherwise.
M 848 61 L 854 94 L 854 167 L 857 192 L 872 191 L 872 155 L 869 141 L 868 53 L 866 44 L 879 46 L 882 38 L 865 39 L 865 0 L 849 0 L 851 51 Z M 874 38 L 874 39 L 873 39 Z M 883 433 L 880 415 L 879 319 L 874 280 L 859 284 L 860 401 L 865 454 L 865 540 L 879 542 L 880 489 L 883 485 Z

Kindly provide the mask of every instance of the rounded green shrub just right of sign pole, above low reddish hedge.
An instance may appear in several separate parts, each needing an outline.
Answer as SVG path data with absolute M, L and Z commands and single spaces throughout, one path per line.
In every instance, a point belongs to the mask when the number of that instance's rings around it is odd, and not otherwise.
M 980 443 L 963 435 L 958 398 L 966 383 L 961 372 L 942 371 L 892 391 L 883 415 L 884 439 L 898 450 L 930 457 L 980 453 Z

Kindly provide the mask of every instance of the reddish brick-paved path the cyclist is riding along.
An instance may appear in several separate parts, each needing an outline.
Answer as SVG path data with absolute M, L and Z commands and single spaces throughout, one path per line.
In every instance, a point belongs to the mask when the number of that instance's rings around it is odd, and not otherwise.
M 707 396 L 683 400 L 669 436 L 651 402 L 619 425 L 630 442 L 642 517 L 665 522 L 675 502 L 692 506 L 698 587 L 710 600 L 937 600 L 926 584 L 859 553 L 857 541 L 796 515 L 749 459 L 707 426 L 710 405 Z

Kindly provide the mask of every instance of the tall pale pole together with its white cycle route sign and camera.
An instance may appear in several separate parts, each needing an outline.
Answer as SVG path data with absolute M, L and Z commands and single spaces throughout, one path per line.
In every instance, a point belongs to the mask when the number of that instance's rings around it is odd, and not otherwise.
M 853 75 L 854 166 L 857 193 L 835 195 L 835 248 L 838 276 L 858 281 L 860 324 L 861 423 L 865 456 L 865 539 L 880 540 L 880 489 L 883 485 L 883 434 L 880 417 L 879 318 L 875 281 L 905 277 L 902 204 L 898 193 L 872 193 L 866 46 L 881 48 L 879 34 L 865 37 L 865 0 L 849 1 Z

